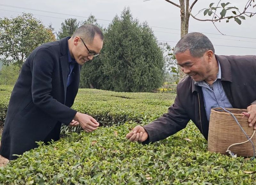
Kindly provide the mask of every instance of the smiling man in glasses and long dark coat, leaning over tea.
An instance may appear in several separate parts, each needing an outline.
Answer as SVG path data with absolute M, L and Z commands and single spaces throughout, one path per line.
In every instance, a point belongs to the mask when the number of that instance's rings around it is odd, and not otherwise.
M 35 148 L 36 141 L 47 143 L 60 138 L 61 123 L 78 124 L 86 131 L 97 129 L 99 123 L 79 113 L 73 105 L 81 66 L 98 56 L 103 34 L 97 26 L 80 26 L 72 37 L 37 47 L 28 56 L 12 90 L 0 154 L 16 159 Z

